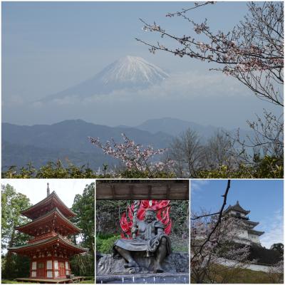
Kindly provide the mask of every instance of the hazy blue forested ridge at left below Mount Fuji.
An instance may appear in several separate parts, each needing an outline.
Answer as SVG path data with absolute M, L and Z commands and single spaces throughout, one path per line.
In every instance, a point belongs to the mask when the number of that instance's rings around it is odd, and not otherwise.
M 81 166 L 102 167 L 103 163 L 115 161 L 92 145 L 88 137 L 100 138 L 101 142 L 111 140 L 122 142 L 122 133 L 141 145 L 155 148 L 167 147 L 172 135 L 150 133 L 135 128 L 108 127 L 86 123 L 83 120 L 64 120 L 53 125 L 13 125 L 2 123 L 2 169 L 11 165 L 18 167 L 32 162 L 40 167 L 48 161 L 58 159 Z

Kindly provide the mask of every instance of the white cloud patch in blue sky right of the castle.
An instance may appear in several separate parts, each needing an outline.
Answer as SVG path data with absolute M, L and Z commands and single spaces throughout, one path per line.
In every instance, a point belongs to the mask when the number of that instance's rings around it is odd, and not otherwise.
M 271 217 L 266 217 L 260 224 L 262 225 L 261 230 L 264 231 L 264 234 L 260 237 L 262 246 L 269 249 L 272 244 L 279 242 L 284 244 L 284 222 L 283 212 L 281 210 L 274 212 L 274 215 Z

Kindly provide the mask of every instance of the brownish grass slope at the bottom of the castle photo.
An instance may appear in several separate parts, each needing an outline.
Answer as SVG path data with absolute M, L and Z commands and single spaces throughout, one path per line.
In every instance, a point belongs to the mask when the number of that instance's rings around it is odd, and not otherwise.
M 227 284 L 283 284 L 283 274 L 268 274 L 263 271 L 249 269 L 229 269 L 226 266 L 214 264 L 209 272 L 209 279 L 203 283 L 227 283 Z M 191 276 L 191 283 L 196 283 Z

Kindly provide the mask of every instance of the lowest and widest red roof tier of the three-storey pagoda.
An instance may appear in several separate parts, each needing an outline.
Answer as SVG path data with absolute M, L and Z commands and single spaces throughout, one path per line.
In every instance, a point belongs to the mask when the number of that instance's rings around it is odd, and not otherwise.
M 24 244 L 19 247 L 10 247 L 8 250 L 16 253 L 23 253 L 31 249 L 40 249 L 41 247 L 52 246 L 53 244 L 60 245 L 61 247 L 69 248 L 76 253 L 87 252 L 88 249 L 83 247 L 78 247 L 75 244 L 69 242 L 67 239 L 63 238 L 60 234 L 56 234 L 55 237 L 48 237 L 47 239 L 42 239 L 38 242 L 33 242 L 32 244 Z

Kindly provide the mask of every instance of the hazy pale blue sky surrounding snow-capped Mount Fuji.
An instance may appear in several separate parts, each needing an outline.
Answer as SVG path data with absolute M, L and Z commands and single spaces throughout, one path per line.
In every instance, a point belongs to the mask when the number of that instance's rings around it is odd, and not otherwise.
M 65 119 L 104 125 L 138 125 L 172 117 L 203 125 L 244 127 L 254 113 L 272 108 L 237 81 L 209 72 L 207 63 L 167 53 L 151 55 L 135 37 L 156 42 L 139 18 L 184 34 L 190 26 L 167 12 L 187 2 L 2 2 L 2 120 L 32 125 Z M 214 31 L 229 30 L 247 13 L 244 2 L 208 5 L 191 16 L 208 19 Z M 33 105 L 95 76 L 120 57 L 141 56 L 165 69 L 171 80 L 142 93 L 118 93 L 61 105 Z

